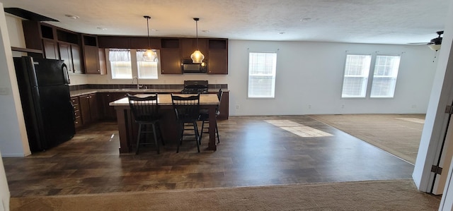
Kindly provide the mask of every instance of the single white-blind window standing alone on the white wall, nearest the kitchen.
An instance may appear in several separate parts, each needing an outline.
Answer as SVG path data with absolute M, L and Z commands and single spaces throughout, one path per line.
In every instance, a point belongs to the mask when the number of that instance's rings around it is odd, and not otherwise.
M 275 97 L 277 53 L 248 54 L 248 97 Z

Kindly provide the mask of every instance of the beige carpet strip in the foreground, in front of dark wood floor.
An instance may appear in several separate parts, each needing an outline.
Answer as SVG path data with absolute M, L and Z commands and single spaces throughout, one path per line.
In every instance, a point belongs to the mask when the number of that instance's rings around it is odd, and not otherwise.
M 11 198 L 11 210 L 437 210 L 411 180 Z

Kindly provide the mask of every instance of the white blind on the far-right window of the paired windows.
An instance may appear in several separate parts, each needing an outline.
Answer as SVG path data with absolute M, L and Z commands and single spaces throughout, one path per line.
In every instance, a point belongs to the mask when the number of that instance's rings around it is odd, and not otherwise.
M 369 97 L 394 97 L 401 56 L 376 56 Z

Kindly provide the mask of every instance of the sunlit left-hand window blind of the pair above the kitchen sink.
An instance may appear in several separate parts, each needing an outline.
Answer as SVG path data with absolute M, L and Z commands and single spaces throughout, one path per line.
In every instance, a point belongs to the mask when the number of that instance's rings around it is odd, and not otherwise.
M 109 49 L 108 59 L 113 79 L 132 78 L 130 49 Z

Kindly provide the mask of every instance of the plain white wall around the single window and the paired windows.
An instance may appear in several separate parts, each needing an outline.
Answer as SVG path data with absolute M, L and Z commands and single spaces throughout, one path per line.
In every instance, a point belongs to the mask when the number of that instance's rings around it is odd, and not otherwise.
M 277 52 L 275 99 L 248 99 L 248 52 Z M 401 54 L 393 99 L 341 99 L 345 55 Z M 426 46 L 229 42 L 230 115 L 425 113 L 436 62 Z M 239 106 L 239 109 L 236 109 Z

